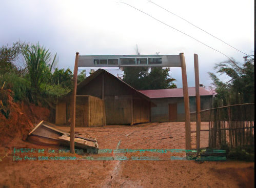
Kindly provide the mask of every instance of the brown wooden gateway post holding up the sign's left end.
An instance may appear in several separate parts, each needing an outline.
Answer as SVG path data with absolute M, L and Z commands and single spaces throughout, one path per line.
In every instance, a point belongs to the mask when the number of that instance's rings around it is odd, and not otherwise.
M 71 101 L 71 125 L 70 125 L 70 152 L 75 153 L 75 98 L 76 98 L 76 86 L 77 86 L 77 71 L 78 71 L 78 58 L 79 53 L 76 52 L 75 67 L 74 67 L 74 91 Z

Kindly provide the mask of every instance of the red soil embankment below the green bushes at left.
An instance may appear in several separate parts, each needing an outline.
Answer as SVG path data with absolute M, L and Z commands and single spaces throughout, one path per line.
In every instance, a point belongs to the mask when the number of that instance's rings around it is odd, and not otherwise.
M 33 124 L 41 120 L 48 120 L 49 109 L 36 106 L 33 103 L 14 102 L 11 90 L 2 91 L 1 94 L 6 99 L 3 108 L 9 117 L 6 118 L 0 113 L 0 146 L 7 146 L 14 138 L 25 140 L 33 129 Z

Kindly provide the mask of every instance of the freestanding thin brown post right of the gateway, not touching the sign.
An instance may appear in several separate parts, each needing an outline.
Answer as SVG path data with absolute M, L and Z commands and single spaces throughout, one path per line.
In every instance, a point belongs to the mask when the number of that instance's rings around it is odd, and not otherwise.
M 195 76 L 195 102 L 196 102 L 196 155 L 199 156 L 200 149 L 200 130 L 201 130 L 201 108 L 200 108 L 200 93 L 199 93 L 199 66 L 198 54 L 194 54 L 194 76 Z

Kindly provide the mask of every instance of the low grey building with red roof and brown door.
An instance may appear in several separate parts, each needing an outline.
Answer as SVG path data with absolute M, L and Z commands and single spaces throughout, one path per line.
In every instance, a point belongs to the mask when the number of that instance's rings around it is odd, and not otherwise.
M 184 97 L 182 88 L 163 90 L 143 90 L 141 93 L 147 95 L 156 105 L 151 107 L 152 122 L 185 121 Z M 200 87 L 201 110 L 212 108 L 214 91 Z M 196 121 L 195 117 L 195 87 L 188 88 L 190 120 Z M 204 113 L 202 121 L 209 120 L 210 114 Z

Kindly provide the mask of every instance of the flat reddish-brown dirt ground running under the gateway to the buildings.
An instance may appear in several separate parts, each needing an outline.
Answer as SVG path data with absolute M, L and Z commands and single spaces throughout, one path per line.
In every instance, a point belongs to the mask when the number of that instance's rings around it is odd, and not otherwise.
M 69 131 L 68 127 L 60 127 Z M 208 129 L 202 123 L 202 129 Z M 195 130 L 195 122 L 191 123 Z M 97 138 L 100 149 L 185 149 L 185 123 L 76 128 Z M 191 134 L 195 148 L 195 134 Z M 207 147 L 208 132 L 201 133 Z M 120 142 L 121 140 L 121 142 Z M 254 163 L 185 160 L 13 161 L 11 147 L 49 148 L 16 138 L 0 148 L 2 187 L 254 187 Z M 52 147 L 51 147 L 52 148 Z M 93 155 L 93 154 L 91 154 Z

